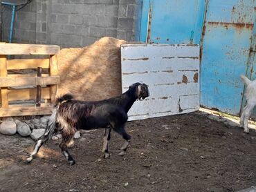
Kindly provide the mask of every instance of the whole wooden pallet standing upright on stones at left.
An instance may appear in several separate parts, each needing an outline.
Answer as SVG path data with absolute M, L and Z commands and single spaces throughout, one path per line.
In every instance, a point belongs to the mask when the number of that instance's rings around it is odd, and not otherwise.
M 59 46 L 0 43 L 0 117 L 51 114 L 57 93 Z M 48 59 L 7 59 L 8 55 L 48 55 Z M 10 70 L 48 69 L 48 74 L 10 74 Z M 23 88 L 22 88 L 22 87 Z M 33 88 L 24 88 L 33 87 Z M 39 90 L 39 93 L 38 93 Z M 38 95 L 39 94 L 39 95 Z M 10 104 L 15 101 L 44 99 L 44 104 Z

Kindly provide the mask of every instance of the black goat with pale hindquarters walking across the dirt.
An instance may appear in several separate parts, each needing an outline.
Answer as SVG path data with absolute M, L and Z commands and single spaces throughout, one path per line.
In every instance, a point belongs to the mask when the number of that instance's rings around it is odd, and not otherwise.
M 125 131 L 127 112 L 136 99 L 145 99 L 149 96 L 146 84 L 132 84 L 129 89 L 118 97 L 95 102 L 85 102 L 73 99 L 72 95 L 63 95 L 56 100 L 56 109 L 51 115 L 46 131 L 35 143 L 33 153 L 27 158 L 31 162 L 38 153 L 39 148 L 51 138 L 57 131 L 62 133 L 60 148 L 69 164 L 75 164 L 75 160 L 68 153 L 68 143 L 73 140 L 75 131 L 80 129 L 90 130 L 105 128 L 103 149 L 104 158 L 109 157 L 108 143 L 111 129 L 122 135 L 125 143 L 120 148 L 119 155 L 124 155 L 131 140 L 131 136 Z

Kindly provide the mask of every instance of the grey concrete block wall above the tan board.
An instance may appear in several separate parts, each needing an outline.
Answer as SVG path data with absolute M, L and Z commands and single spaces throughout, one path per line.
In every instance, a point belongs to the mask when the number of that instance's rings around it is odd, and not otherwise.
M 34 0 L 17 12 L 13 42 L 66 48 L 88 46 L 105 36 L 138 40 L 141 1 Z

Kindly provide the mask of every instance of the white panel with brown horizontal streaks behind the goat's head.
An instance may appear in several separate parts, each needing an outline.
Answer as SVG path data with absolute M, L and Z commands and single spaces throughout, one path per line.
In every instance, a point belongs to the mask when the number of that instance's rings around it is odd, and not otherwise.
M 131 84 L 149 86 L 129 120 L 189 113 L 199 109 L 198 45 L 122 45 L 122 92 Z

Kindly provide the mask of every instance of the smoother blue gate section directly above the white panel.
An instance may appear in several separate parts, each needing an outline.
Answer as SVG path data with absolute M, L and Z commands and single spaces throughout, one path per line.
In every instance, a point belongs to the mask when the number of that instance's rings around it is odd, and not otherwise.
M 205 0 L 144 0 L 140 41 L 199 44 Z

